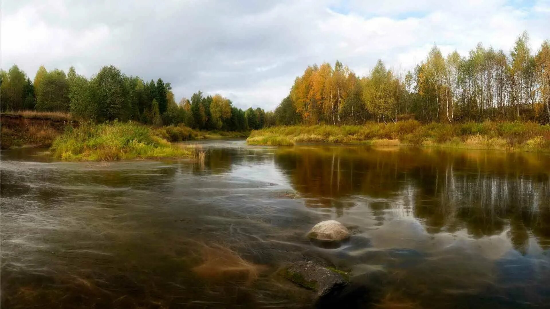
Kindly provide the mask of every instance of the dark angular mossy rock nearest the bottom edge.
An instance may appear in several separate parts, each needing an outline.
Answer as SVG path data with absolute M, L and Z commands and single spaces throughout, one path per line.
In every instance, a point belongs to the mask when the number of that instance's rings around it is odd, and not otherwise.
M 284 278 L 303 288 L 316 291 L 319 297 L 331 294 L 348 283 L 347 278 L 342 273 L 332 271 L 311 261 L 296 262 L 281 271 Z

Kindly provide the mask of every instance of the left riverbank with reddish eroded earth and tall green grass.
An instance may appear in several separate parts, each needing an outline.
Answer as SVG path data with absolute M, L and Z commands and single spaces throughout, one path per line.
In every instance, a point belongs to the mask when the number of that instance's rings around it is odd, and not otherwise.
M 69 113 L 20 111 L 2 113 L 2 149 L 51 147 L 54 157 L 67 161 L 204 157 L 196 147 L 173 142 L 247 137 L 249 132 L 199 131 L 184 125 L 151 127 L 140 123 L 79 122 Z

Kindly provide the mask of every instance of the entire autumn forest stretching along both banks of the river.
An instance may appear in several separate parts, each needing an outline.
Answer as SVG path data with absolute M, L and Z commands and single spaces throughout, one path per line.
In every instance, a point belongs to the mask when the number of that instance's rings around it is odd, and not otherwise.
M 310 65 L 275 111 L 246 111 L 221 95 L 193 93 L 176 103 L 170 83 L 144 81 L 109 65 L 91 79 L 41 66 L 31 81 L 17 65 L 0 74 L 2 111 L 64 111 L 97 122 L 135 120 L 150 125 L 248 131 L 274 125 L 363 124 L 367 121 L 465 123 L 486 120 L 550 123 L 550 43 L 537 52 L 527 32 L 509 54 L 482 43 L 467 56 L 446 57 L 437 46 L 408 71 L 382 60 L 359 77 L 338 60 Z

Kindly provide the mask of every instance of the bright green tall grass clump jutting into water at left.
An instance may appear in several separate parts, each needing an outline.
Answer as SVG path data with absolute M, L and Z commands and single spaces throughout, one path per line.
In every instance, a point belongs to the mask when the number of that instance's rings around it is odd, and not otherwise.
M 193 153 L 172 145 L 145 125 L 137 123 L 83 124 L 69 127 L 53 141 L 53 155 L 67 161 L 191 157 Z

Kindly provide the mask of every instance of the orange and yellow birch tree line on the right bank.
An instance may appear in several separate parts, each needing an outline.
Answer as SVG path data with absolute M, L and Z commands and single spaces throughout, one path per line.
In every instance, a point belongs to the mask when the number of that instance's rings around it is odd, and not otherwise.
M 434 46 L 412 70 L 378 60 L 359 77 L 337 61 L 311 65 L 274 112 L 277 125 L 531 120 L 550 123 L 550 44 L 531 53 L 529 35 L 509 55 L 478 43 L 466 57 Z

